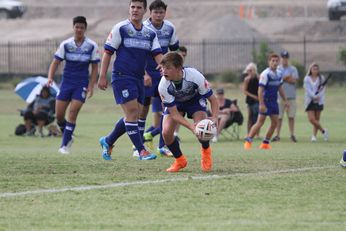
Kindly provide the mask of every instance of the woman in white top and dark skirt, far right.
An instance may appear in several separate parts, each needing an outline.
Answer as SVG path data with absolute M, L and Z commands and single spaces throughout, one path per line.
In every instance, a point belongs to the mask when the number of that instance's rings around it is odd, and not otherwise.
M 325 78 L 321 75 L 318 64 L 312 63 L 304 78 L 305 111 L 307 112 L 309 122 L 313 126 L 311 142 L 317 141 L 316 135 L 318 131 L 322 132 L 325 141 L 329 138 L 327 129 L 320 124 L 325 98 L 324 81 Z

